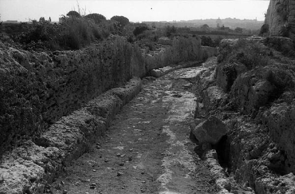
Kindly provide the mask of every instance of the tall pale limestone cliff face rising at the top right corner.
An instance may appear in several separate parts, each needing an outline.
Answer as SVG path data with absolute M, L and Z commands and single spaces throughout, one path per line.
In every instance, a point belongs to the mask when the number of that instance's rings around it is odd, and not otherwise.
M 269 35 L 287 36 L 295 40 L 295 1 L 271 0 L 265 24 L 269 27 Z

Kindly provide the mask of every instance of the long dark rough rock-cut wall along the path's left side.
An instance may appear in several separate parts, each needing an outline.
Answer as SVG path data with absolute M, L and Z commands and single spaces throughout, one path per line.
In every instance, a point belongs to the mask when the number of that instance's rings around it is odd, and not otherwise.
M 199 60 L 200 52 L 196 38 L 174 40 L 164 52 L 148 56 L 123 38 L 52 53 L 0 43 L 0 155 L 133 76 L 179 60 Z

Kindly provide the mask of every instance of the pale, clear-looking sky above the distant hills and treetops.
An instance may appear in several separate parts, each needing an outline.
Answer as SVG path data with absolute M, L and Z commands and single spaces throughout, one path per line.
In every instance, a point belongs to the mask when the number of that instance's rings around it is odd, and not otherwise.
M 264 20 L 269 0 L 78 0 L 86 13 L 100 13 L 107 19 L 125 16 L 132 22 L 173 21 L 210 18 Z M 0 0 L 2 21 L 28 21 L 78 10 L 77 0 Z

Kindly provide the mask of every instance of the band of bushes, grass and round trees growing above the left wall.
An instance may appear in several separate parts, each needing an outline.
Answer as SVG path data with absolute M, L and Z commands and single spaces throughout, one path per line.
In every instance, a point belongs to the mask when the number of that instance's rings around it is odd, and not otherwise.
M 41 17 L 39 21 L 31 21 L 23 24 L 6 24 L 1 30 L 14 40 L 15 46 L 39 52 L 56 50 L 78 50 L 91 43 L 104 43 L 114 40 L 113 35 L 122 36 L 127 42 L 139 46 L 145 52 L 159 51 L 156 43 L 162 36 L 193 37 L 198 36 L 184 32 L 182 28 L 167 26 L 165 28 L 150 27 L 145 23 L 130 23 L 124 16 L 113 16 L 107 20 L 98 13 L 85 14 L 85 10 L 69 11 L 66 16 L 60 18 L 59 23 L 51 23 Z M 210 38 L 208 38 L 208 41 Z M 218 43 L 211 40 L 206 43 L 215 46 Z M 184 49 L 186 50 L 186 49 Z

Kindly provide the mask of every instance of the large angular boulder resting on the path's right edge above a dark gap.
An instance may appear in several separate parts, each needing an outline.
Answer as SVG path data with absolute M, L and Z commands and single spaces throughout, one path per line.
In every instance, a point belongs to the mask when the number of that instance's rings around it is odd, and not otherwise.
M 191 129 L 191 132 L 201 144 L 215 145 L 226 134 L 226 126 L 220 119 L 211 115 L 207 120 Z

